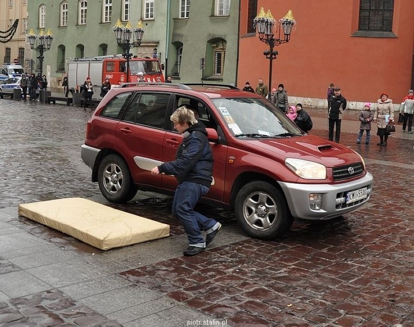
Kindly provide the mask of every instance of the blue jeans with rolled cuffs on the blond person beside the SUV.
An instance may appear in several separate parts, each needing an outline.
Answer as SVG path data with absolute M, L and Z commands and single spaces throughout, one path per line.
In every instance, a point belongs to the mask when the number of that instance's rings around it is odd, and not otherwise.
M 182 182 L 175 189 L 173 200 L 173 216 L 183 223 L 190 246 L 206 247 L 206 241 L 201 233 L 213 228 L 217 221 L 194 211 L 194 207 L 209 188 L 205 185 Z

